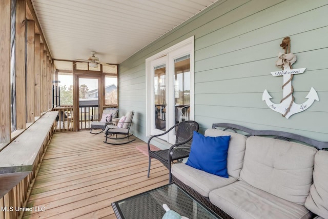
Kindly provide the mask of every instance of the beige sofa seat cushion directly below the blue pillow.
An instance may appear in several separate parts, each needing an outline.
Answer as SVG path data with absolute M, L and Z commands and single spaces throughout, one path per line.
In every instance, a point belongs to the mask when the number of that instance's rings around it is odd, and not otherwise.
M 208 197 L 211 190 L 226 186 L 236 181 L 236 178 L 220 177 L 186 164 L 173 164 L 171 173 L 182 183 L 193 188 L 202 196 Z

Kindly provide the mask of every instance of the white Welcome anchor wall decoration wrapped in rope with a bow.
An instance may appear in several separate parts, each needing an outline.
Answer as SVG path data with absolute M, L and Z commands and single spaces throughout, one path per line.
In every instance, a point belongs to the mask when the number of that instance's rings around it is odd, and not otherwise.
M 294 88 L 292 86 L 292 79 L 294 74 L 301 74 L 305 71 L 306 68 L 292 69 L 292 65 L 296 62 L 296 55 L 291 53 L 291 40 L 290 37 L 285 37 L 282 40 L 280 46 L 285 50 L 285 53 L 279 52 L 278 61 L 276 62 L 276 66 L 282 68 L 282 71 L 271 72 L 273 76 L 283 76 L 283 98 L 280 101 L 280 104 L 273 103 L 270 99 L 269 92 L 264 90 L 262 95 L 262 101 L 274 111 L 279 112 L 285 118 L 289 118 L 291 115 L 302 112 L 308 109 L 314 101 L 319 101 L 318 94 L 316 90 L 311 87 L 310 92 L 305 98 L 308 98 L 303 104 L 296 104 L 294 102 L 293 91 Z

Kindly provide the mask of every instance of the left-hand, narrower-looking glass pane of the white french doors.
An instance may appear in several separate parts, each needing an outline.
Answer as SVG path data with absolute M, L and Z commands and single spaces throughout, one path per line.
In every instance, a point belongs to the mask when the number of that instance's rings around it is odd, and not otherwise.
M 155 128 L 166 130 L 165 65 L 154 68 Z

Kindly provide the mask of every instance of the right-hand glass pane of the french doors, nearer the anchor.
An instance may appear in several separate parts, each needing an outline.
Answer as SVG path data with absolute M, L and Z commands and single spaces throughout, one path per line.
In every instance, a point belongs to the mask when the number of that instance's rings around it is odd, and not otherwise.
M 175 123 L 189 120 L 190 112 L 190 55 L 174 60 Z

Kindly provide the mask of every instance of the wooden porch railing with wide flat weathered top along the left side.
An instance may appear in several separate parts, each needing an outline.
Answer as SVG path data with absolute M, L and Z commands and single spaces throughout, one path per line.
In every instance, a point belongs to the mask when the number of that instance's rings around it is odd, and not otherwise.
M 56 116 L 45 113 L 0 152 L 0 218 L 22 217 Z

